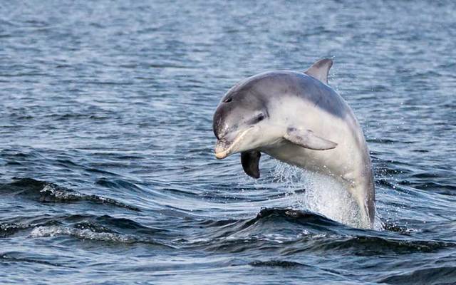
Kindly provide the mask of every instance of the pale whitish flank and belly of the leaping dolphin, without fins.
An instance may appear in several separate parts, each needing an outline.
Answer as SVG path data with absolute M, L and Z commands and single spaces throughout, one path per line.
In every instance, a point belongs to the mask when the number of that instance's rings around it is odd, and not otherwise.
M 341 183 L 360 208 L 361 222 L 356 224 L 363 228 L 373 227 L 368 217 L 368 199 L 373 197 L 371 160 L 362 130 L 351 110 L 348 109 L 346 118 L 339 118 L 299 98 L 282 100 L 276 110 L 271 116 L 276 118 L 273 124 L 312 130 L 321 138 L 338 145 L 332 150 L 309 150 L 279 140 L 261 148 L 261 151 L 290 165 L 330 176 Z M 301 110 L 305 110 L 305 113 Z

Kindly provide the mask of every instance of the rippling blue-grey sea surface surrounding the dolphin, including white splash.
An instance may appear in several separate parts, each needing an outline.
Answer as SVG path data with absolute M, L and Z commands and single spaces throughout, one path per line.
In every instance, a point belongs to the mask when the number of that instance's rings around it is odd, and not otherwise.
M 1 1 L 0 284 L 456 284 L 455 11 Z M 316 213 L 343 199 L 322 177 L 214 157 L 231 86 L 324 57 L 371 150 L 375 230 Z

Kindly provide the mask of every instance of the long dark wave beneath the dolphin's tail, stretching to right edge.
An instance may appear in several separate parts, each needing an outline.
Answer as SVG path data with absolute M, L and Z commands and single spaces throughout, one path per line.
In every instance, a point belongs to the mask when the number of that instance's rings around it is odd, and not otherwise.
M 199 223 L 211 234 L 188 241 L 188 246 L 214 252 L 258 249 L 289 256 L 300 252 L 351 252 L 357 256 L 435 252 L 456 247 L 454 242 L 413 239 L 404 229 L 383 232 L 356 229 L 320 214 L 290 208 L 264 208 L 252 219 L 207 220 Z M 392 227 L 394 229 L 394 227 Z

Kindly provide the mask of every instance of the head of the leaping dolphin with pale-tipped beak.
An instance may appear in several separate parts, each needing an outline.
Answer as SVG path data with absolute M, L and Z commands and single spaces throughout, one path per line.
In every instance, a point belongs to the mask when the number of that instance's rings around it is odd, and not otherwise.
M 269 120 L 266 100 L 254 86 L 234 86 L 224 95 L 214 113 L 215 156 L 223 159 L 267 145 L 271 141 Z M 266 132 L 268 135 L 264 135 Z

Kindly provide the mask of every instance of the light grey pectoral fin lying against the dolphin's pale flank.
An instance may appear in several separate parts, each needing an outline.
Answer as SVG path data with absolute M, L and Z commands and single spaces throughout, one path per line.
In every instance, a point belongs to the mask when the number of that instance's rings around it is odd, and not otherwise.
M 337 146 L 336 142 L 318 137 L 318 135 L 315 135 L 311 130 L 288 128 L 284 138 L 296 145 L 300 145 L 301 147 L 306 147 L 311 150 L 331 150 Z

